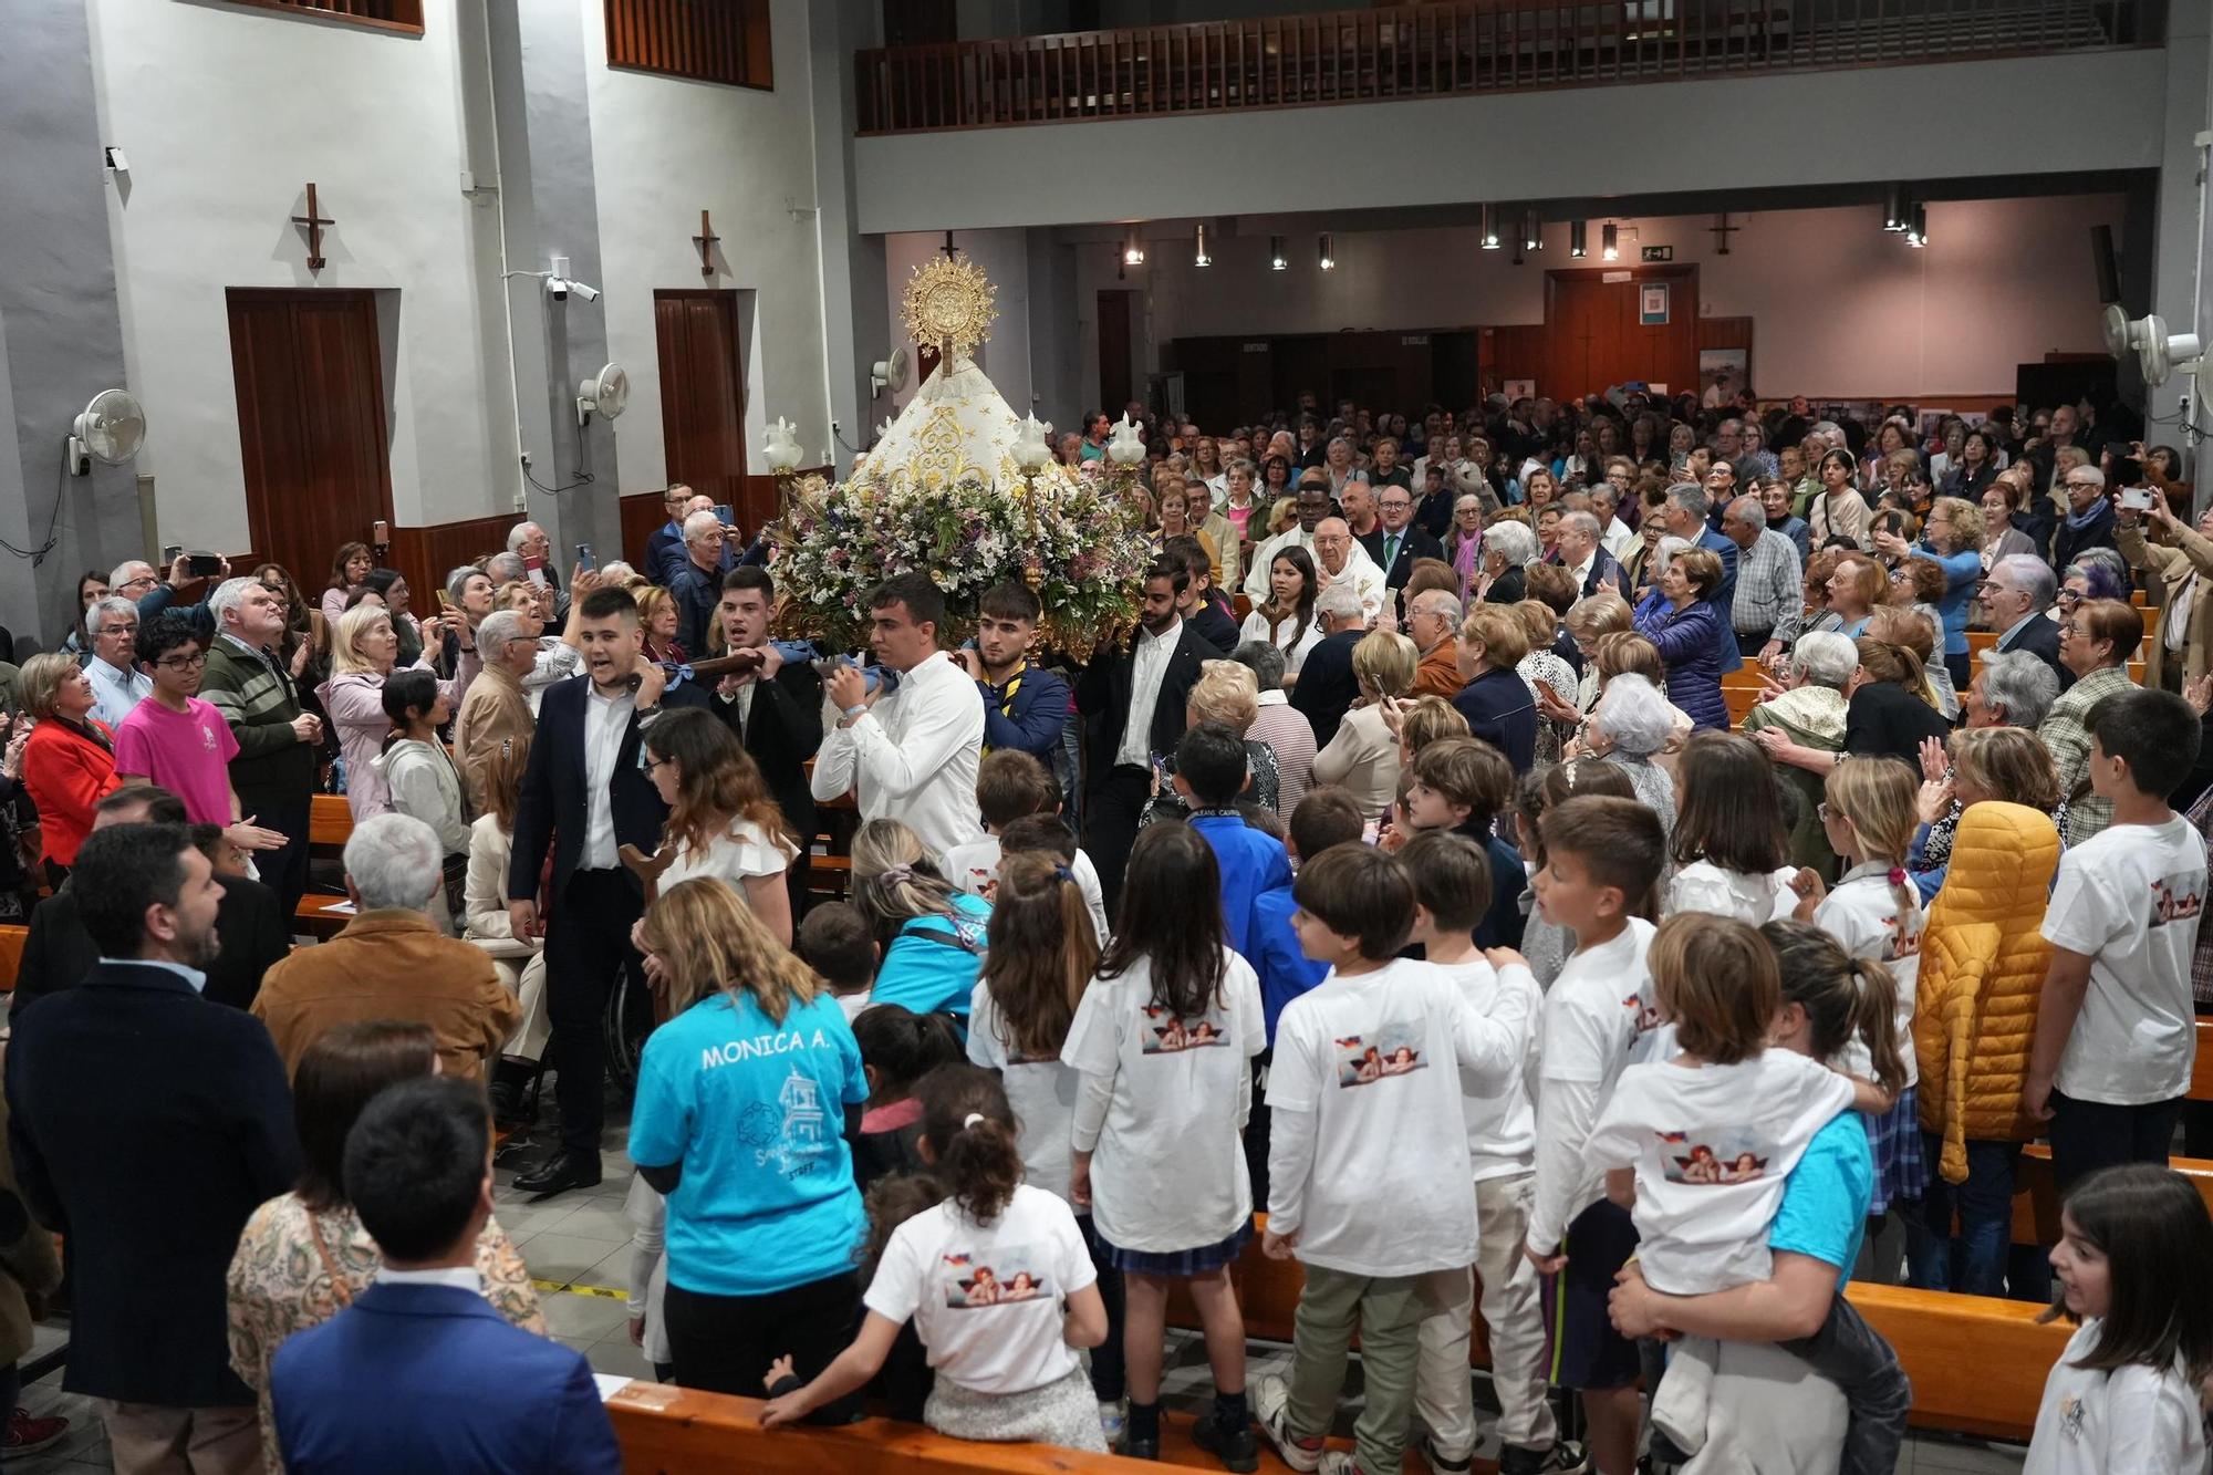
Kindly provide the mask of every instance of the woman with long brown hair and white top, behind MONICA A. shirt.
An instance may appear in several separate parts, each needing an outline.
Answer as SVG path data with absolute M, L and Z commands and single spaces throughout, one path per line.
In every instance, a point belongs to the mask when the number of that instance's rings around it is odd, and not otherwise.
M 642 762 L 668 806 L 659 886 L 717 877 L 788 948 L 792 893 L 783 873 L 799 859 L 799 837 L 730 724 L 699 706 L 662 713 L 644 733 Z

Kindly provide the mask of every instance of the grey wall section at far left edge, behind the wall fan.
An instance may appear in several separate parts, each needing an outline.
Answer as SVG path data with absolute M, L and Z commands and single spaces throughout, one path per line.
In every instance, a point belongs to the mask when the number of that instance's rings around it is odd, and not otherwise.
M 0 538 L 58 538 L 35 569 L 0 549 L 0 625 L 58 640 L 77 574 L 142 551 L 128 465 L 62 476 L 77 412 L 126 388 L 84 0 L 9 7 L 0 140 Z

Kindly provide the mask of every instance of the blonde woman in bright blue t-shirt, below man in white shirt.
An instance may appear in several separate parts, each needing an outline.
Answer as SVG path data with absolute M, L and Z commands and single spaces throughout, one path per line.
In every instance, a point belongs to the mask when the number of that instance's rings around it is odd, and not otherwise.
M 870 819 L 854 833 L 852 904 L 883 950 L 870 1003 L 952 1014 L 967 1030 L 991 904 L 956 890 L 898 819 Z

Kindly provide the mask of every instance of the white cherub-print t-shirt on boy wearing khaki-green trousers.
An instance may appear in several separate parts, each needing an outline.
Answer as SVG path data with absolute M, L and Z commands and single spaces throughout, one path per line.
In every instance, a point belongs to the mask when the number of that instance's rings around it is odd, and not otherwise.
M 1270 1234 L 1297 1234 L 1301 1260 L 1350 1276 L 1474 1265 L 1463 1072 L 1500 1090 L 1527 1067 L 1538 994 L 1525 972 L 1509 968 L 1476 1008 L 1436 963 L 1396 959 L 1330 972 L 1284 1005 L 1268 1067 Z

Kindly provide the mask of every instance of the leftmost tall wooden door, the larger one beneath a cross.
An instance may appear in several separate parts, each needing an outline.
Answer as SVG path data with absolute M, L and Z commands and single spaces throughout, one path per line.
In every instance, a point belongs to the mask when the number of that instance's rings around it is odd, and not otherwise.
M 230 288 L 252 551 L 321 589 L 341 543 L 392 518 L 376 295 Z

